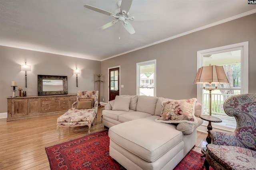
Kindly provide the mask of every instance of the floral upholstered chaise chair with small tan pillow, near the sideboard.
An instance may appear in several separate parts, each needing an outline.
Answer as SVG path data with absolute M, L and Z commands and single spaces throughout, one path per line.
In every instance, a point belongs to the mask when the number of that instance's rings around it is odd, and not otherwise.
M 94 125 L 95 117 L 98 111 L 98 91 L 78 91 L 77 100 L 72 104 L 72 109 L 69 109 L 64 115 L 57 119 L 57 130 L 60 135 L 60 126 L 89 127 Z

